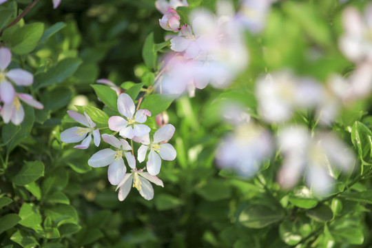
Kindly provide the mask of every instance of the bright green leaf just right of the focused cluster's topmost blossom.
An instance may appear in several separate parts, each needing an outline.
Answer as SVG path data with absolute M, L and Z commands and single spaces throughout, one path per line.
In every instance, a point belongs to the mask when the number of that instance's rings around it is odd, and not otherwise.
M 172 101 L 176 99 L 178 95 L 176 94 L 152 94 L 145 97 L 140 109 L 149 110 L 152 116 L 160 114 L 164 110 L 167 110 Z

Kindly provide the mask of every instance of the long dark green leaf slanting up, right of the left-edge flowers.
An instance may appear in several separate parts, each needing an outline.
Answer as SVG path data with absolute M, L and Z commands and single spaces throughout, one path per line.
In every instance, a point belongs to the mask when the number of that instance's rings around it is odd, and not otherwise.
M 34 85 L 37 89 L 40 89 L 62 83 L 76 72 L 81 63 L 81 59 L 78 58 L 63 59 L 49 68 L 48 71 L 37 74 L 34 77 Z

